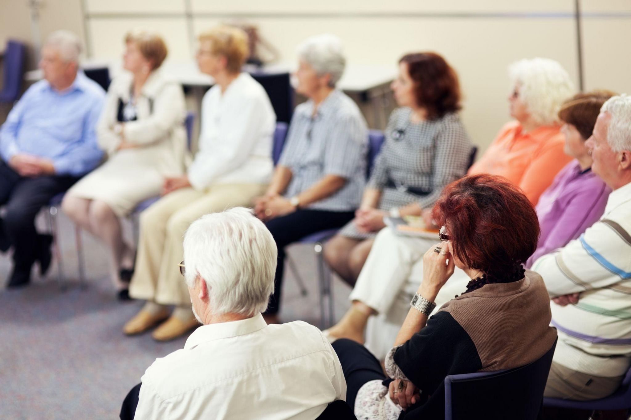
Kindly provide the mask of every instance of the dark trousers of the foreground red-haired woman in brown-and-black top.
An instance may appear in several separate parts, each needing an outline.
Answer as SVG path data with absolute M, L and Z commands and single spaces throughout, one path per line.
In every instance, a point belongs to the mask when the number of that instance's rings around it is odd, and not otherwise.
M 342 372 L 346 379 L 346 402 L 351 409 L 355 409 L 357 392 L 365 383 L 376 379 L 391 382 L 384 374 L 379 360 L 362 344 L 341 338 L 331 345 L 342 365 Z

